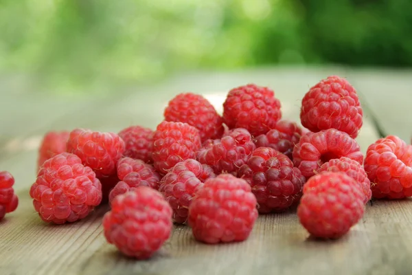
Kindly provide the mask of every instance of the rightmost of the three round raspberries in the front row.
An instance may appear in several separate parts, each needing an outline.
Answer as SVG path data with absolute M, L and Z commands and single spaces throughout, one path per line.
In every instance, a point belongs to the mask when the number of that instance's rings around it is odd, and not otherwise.
M 304 185 L 297 216 L 310 234 L 337 239 L 363 216 L 365 205 L 361 185 L 345 173 L 323 172 Z

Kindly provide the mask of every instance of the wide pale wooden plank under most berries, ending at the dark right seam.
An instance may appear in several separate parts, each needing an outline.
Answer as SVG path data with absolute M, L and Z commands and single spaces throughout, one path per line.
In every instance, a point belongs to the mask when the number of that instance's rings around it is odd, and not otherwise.
M 175 94 L 204 94 L 221 111 L 227 91 L 246 83 L 268 85 L 282 101 L 284 118 L 298 120 L 300 99 L 308 88 L 342 69 L 262 69 L 231 74 L 177 76 L 156 87 L 101 98 L 81 112 L 72 112 L 34 130 L 83 126 L 119 131 L 130 124 L 155 128 L 163 107 Z M 18 132 L 19 135 L 24 131 Z M 26 137 L 29 138 L 30 136 Z M 366 115 L 358 137 L 363 151 L 378 138 Z M 19 146 L 17 146 L 19 147 Z M 47 225 L 34 212 L 27 188 L 34 181 L 36 148 L 0 159 L 2 169 L 13 170 L 21 204 L 0 223 L 0 270 L 19 274 L 409 274 L 411 265 L 411 201 L 379 201 L 352 232 L 334 242 L 308 239 L 293 211 L 262 215 L 251 237 L 242 243 L 205 245 L 194 241 L 190 228 L 175 226 L 170 240 L 150 261 L 133 261 L 116 252 L 102 236 L 106 207 L 82 221 Z M 30 169 L 31 169 L 30 168 Z M 34 170 L 34 169 L 33 169 Z M 23 182 L 21 182 L 23 181 Z M 347 263 L 350 263 L 348 265 Z M 407 273 L 404 273 L 407 272 Z

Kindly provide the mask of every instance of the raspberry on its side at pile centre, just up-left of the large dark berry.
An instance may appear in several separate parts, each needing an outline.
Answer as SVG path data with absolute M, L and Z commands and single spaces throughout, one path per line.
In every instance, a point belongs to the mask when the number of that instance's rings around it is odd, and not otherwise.
M 237 175 L 240 166 L 245 164 L 256 146 L 246 129 L 233 129 L 221 140 L 207 140 L 198 151 L 198 161 L 214 169 L 216 174 Z

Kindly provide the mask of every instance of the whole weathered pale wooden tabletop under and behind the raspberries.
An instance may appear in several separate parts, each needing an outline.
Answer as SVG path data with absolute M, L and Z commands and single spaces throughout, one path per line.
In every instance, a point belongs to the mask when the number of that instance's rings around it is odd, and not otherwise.
M 66 225 L 41 221 L 28 195 L 35 180 L 38 143 L 49 130 L 86 127 L 118 132 L 126 126 L 155 126 L 168 100 L 183 91 L 205 95 L 222 110 L 231 87 L 256 83 L 275 89 L 283 118 L 299 121 L 302 96 L 321 78 L 345 76 L 361 94 L 363 152 L 380 135 L 409 142 L 412 132 L 412 72 L 342 67 L 253 69 L 192 73 L 151 87 L 110 95 L 38 94 L 19 86 L 1 88 L 0 170 L 16 179 L 19 208 L 0 222 L 0 274 L 412 274 L 412 200 L 374 201 L 363 219 L 338 241 L 316 241 L 293 210 L 261 215 L 247 241 L 206 245 L 187 226 L 174 226 L 155 258 L 133 261 L 108 245 L 101 206 L 87 219 Z M 14 83 L 15 84 L 15 83 Z M 6 87 L 6 88 L 5 88 Z

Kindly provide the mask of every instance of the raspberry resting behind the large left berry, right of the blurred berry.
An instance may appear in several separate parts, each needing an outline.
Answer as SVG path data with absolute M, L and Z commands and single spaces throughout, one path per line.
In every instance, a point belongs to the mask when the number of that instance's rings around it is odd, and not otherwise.
M 115 133 L 92 132 L 75 129 L 69 135 L 67 152 L 82 159 L 96 177 L 107 177 L 116 173 L 116 162 L 124 152 L 124 141 Z

